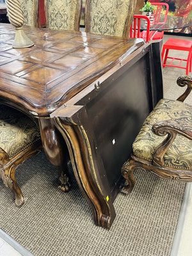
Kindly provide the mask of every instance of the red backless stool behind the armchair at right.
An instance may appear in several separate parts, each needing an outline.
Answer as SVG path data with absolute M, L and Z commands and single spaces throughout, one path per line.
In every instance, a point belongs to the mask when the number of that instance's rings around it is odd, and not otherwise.
M 188 51 L 188 58 L 187 59 L 181 59 L 181 58 L 173 58 L 168 56 L 169 50 L 179 50 L 179 51 Z M 166 50 L 166 51 L 165 51 Z M 165 52 L 165 56 L 164 56 Z M 186 69 L 186 75 L 191 72 L 191 54 L 192 54 L 192 41 L 188 40 L 182 40 L 182 39 L 176 39 L 176 38 L 169 38 L 166 43 L 163 45 L 163 51 L 161 54 L 163 67 L 177 67 L 177 68 L 183 68 Z M 163 61 L 164 57 L 164 61 Z M 166 64 L 167 59 L 172 59 L 172 61 L 169 64 Z M 174 60 L 180 60 L 178 65 L 173 65 Z M 181 67 L 182 61 L 186 61 L 186 67 Z

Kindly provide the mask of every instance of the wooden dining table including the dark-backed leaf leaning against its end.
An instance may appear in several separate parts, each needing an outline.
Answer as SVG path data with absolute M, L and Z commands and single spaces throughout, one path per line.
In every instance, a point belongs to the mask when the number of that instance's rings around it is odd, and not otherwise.
M 42 145 L 68 191 L 72 163 L 95 223 L 110 228 L 121 166 L 163 95 L 161 41 L 24 26 L 34 45 L 13 48 L 0 24 L 0 100 L 38 121 Z

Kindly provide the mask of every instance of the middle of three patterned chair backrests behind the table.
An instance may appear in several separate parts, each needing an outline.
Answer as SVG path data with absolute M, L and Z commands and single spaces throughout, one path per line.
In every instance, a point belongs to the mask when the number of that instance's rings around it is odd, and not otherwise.
M 82 0 L 46 0 L 47 28 L 79 31 Z

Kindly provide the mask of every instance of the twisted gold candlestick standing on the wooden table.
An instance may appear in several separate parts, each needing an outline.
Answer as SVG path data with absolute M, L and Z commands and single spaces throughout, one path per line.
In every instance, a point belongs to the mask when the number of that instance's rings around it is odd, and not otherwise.
M 31 47 L 34 43 L 26 36 L 22 29 L 24 16 L 20 8 L 19 0 L 5 0 L 8 18 L 10 23 L 15 27 L 15 41 L 13 48 Z

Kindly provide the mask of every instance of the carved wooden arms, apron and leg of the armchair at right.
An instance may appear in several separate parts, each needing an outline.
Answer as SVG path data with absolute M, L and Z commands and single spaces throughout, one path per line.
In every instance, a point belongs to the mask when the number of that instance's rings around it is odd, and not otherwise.
M 192 90 L 192 77 L 179 77 L 177 79 L 177 84 L 179 86 L 187 86 L 186 91 L 177 99 L 180 102 L 183 102 Z M 154 132 L 154 134 L 157 136 L 167 136 L 156 148 L 156 150 L 154 150 L 152 161 L 148 161 L 132 154 L 130 159 L 124 163 L 122 166 L 122 176 L 125 178 L 125 186 L 122 188 L 122 193 L 130 193 L 134 188 L 135 179 L 133 172 L 138 168 L 155 173 L 164 179 L 192 182 L 192 170 L 172 168 L 164 165 L 164 155 L 166 154 L 170 145 L 172 145 L 177 134 L 192 140 L 192 123 L 190 130 L 186 129 L 182 124 L 175 125 L 175 122 L 164 120 L 154 124 L 152 127 L 152 132 Z

